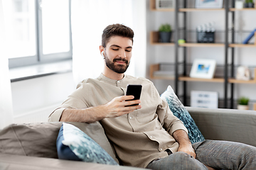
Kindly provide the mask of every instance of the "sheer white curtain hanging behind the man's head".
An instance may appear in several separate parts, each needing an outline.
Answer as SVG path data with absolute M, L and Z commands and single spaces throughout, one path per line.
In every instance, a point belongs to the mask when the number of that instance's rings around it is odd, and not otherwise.
M 146 75 L 146 0 L 72 0 L 73 75 L 75 83 L 95 78 L 103 68 L 102 30 L 122 23 L 134 30 L 132 60 L 126 74 Z

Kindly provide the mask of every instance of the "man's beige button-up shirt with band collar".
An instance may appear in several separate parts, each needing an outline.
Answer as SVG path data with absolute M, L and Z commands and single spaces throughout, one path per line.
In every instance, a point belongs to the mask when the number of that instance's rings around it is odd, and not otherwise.
M 154 84 L 148 79 L 125 75 L 116 81 L 103 74 L 97 79 L 86 79 L 78 84 L 73 94 L 49 116 L 59 121 L 65 108 L 89 108 L 124 96 L 128 84 L 142 84 L 142 108 L 118 118 L 100 120 L 102 127 L 122 163 L 127 166 L 146 167 L 152 160 L 167 157 L 166 149 L 177 152 L 178 142 L 172 137 L 176 130 L 188 132 L 161 100 Z

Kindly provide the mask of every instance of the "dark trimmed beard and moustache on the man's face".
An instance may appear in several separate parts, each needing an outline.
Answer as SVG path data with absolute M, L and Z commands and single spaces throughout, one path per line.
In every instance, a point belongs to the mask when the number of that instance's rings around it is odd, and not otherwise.
M 115 64 L 116 61 L 124 61 L 125 64 Z M 122 74 L 126 72 L 127 68 L 129 67 L 129 62 L 126 59 L 122 59 L 122 57 L 114 58 L 113 62 L 105 55 L 105 63 L 109 69 L 112 71 Z

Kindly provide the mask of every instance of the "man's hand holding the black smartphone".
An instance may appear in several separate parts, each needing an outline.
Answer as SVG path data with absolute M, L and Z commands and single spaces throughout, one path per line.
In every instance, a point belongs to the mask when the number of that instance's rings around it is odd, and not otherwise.
M 107 113 L 105 115 L 105 118 L 116 118 L 121 115 L 131 113 L 132 111 L 137 110 L 139 108 L 142 108 L 142 106 L 140 105 L 129 106 L 140 103 L 140 100 L 129 101 L 133 98 L 134 96 L 119 96 L 113 98 L 112 101 L 104 105 L 105 112 Z

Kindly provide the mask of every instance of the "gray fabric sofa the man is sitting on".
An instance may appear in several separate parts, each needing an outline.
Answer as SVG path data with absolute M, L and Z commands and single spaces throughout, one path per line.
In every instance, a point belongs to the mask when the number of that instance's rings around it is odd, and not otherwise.
M 256 146 L 256 111 L 186 108 L 206 139 Z M 99 123 L 71 124 L 92 137 L 114 157 L 112 147 Z M 139 169 L 58 159 L 55 140 L 60 126 L 61 123 L 31 123 L 11 125 L 1 130 L 0 169 Z

